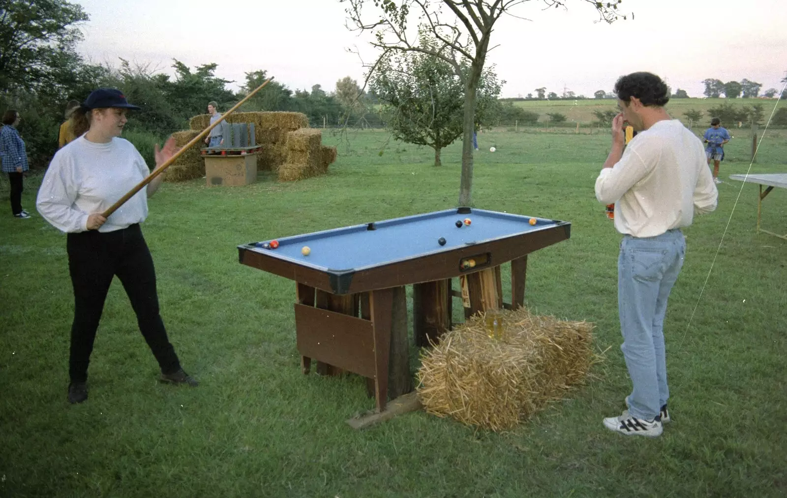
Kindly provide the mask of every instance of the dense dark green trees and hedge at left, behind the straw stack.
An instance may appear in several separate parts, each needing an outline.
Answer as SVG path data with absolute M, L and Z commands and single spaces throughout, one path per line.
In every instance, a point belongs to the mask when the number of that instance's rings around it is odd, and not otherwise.
M 233 82 L 216 76 L 216 64 L 192 69 L 173 59 L 174 76 L 123 59 L 116 66 L 91 64 L 76 50 L 83 39 L 79 26 L 87 20 L 81 6 L 66 0 L 35 2 L 35 8 L 23 0 L 0 5 L 0 112 L 21 113 L 20 133 L 34 167 L 46 165 L 57 149 L 66 102 L 82 102 L 97 87 L 119 88 L 142 107 L 129 117 L 131 136 L 161 140 L 187 129 L 190 117 L 207 112 L 208 102 L 226 110 L 267 78 L 264 70 L 248 72 L 240 91 L 232 91 L 227 85 Z M 293 91 L 272 80 L 241 110 L 297 111 L 313 125 L 382 125 L 373 101 L 349 77 L 330 92 L 319 84 Z

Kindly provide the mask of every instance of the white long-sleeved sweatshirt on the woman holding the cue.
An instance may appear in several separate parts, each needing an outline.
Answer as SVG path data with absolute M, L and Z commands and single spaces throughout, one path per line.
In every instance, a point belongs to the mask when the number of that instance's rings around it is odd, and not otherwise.
M 102 213 L 150 174 L 145 159 L 126 139 L 94 143 L 84 136 L 54 154 L 35 206 L 63 232 L 87 230 L 87 216 Z M 113 232 L 145 221 L 147 191 L 142 188 L 120 206 L 99 232 Z

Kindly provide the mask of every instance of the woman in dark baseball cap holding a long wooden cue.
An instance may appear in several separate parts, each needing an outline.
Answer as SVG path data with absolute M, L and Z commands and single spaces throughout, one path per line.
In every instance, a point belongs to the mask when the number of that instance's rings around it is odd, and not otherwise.
M 180 366 L 159 313 L 156 273 L 139 224 L 148 214 L 147 198 L 161 186 L 159 175 L 109 217 L 102 212 L 150 169 L 133 144 L 120 138 L 128 110 L 139 110 L 113 88 L 93 91 L 75 111 L 74 139 L 57 151 L 44 175 L 36 207 L 67 234 L 68 270 L 74 289 L 74 320 L 68 362 L 68 401 L 87 400 L 87 366 L 109 284 L 117 276 L 137 315 L 142 336 L 161 368 L 160 381 L 196 386 Z M 176 152 L 170 138 L 156 165 Z

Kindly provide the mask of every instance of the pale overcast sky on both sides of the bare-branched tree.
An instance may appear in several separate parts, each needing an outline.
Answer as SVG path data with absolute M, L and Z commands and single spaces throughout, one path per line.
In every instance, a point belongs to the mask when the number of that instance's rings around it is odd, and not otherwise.
M 176 58 L 190 67 L 215 62 L 216 76 L 244 81 L 265 69 L 291 89 L 352 76 L 362 82 L 357 54 L 371 61 L 371 35 L 345 27 L 338 0 L 72 0 L 91 19 L 83 25 L 80 52 L 116 65 L 125 58 L 172 73 Z M 488 64 L 505 80 L 503 96 L 546 87 L 558 95 L 611 91 L 619 75 L 651 71 L 673 91 L 702 96 L 705 78 L 744 78 L 781 90 L 787 71 L 787 0 L 623 0 L 634 20 L 596 23 L 580 0 L 568 9 L 543 10 L 539 0 L 503 17 L 492 35 Z M 368 12 L 375 7 L 370 5 Z M 230 85 L 237 89 L 237 84 Z

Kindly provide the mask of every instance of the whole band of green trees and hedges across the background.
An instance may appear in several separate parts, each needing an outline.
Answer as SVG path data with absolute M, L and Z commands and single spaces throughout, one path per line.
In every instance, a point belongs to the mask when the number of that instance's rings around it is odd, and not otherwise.
M 13 108 L 22 114 L 24 119 L 20 132 L 34 166 L 46 165 L 55 152 L 57 129 L 64 119 L 65 103 L 71 99 L 81 102 L 96 87 L 120 88 L 130 102 L 142 107 L 142 112 L 131 114 L 127 129 L 131 133 L 149 136 L 152 154 L 152 140 L 161 140 L 171 132 L 186 129 L 190 117 L 205 113 L 207 102 L 215 100 L 219 102 L 220 110 L 226 110 L 268 78 L 263 69 L 247 72 L 239 91 L 232 91 L 228 85 L 233 82 L 216 76 L 216 64 L 190 68 L 173 59 L 172 76 L 150 65 L 132 64 L 123 59 L 116 66 L 91 64 L 76 50 L 82 39 L 79 25 L 87 19 L 87 13 L 81 6 L 67 0 L 36 2 L 35 9 L 30 8 L 30 2 L 23 0 L 7 0 L 0 6 L 0 111 Z M 305 113 L 312 126 L 324 123 L 331 126 L 388 125 L 391 128 L 393 121 L 399 125 L 409 123 L 410 128 L 417 125 L 413 128 L 420 130 L 417 133 L 400 127 L 402 136 L 407 135 L 408 140 L 414 143 L 419 140 L 416 136 L 426 137 L 423 141 L 428 142 L 429 147 L 435 147 L 436 162 L 439 162 L 439 148 L 453 142 L 462 129 L 462 92 L 457 90 L 460 82 L 457 75 L 448 76 L 449 69 L 434 61 L 429 64 L 419 66 L 422 68 L 419 69 L 421 77 L 415 82 L 404 75 L 395 77 L 401 74 L 401 67 L 395 62 L 387 73 L 387 83 L 385 78 L 378 80 L 368 91 L 360 88 L 357 81 L 349 76 L 338 80 L 334 91 L 326 91 L 319 84 L 309 89 L 291 90 L 274 79 L 249 99 L 241 110 L 297 111 Z M 413 62 L 412 68 L 415 67 Z M 407 90 L 405 82 L 411 85 L 411 90 Z M 555 91 L 547 91 L 546 87 L 539 87 L 524 98 L 500 99 L 503 83 L 493 72 L 484 73 L 478 87 L 478 113 L 475 116 L 478 128 L 515 123 L 534 125 L 539 121 L 541 116 L 538 113 L 515 106 L 514 101 L 586 98 L 567 89 L 558 95 Z M 762 87 L 750 80 L 723 84 L 720 80 L 709 79 L 704 83 L 706 95 L 724 94 L 729 98 L 756 96 Z M 445 95 L 445 102 L 450 102 L 450 105 L 438 109 L 434 105 L 434 95 L 437 95 L 434 92 Z M 763 95 L 776 95 L 776 92 L 769 89 Z M 688 97 L 680 88 L 672 96 Z M 593 98 L 615 98 L 615 95 L 599 90 L 594 92 Z M 394 113 L 397 109 L 409 114 Z M 419 109 L 428 113 L 428 119 L 420 119 L 412 111 Z M 730 125 L 739 121 L 746 125 L 762 123 L 764 119 L 761 104 L 733 106 L 725 103 L 707 112 L 708 119 L 719 117 Z M 597 111 L 597 122 L 607 125 L 614 114 L 614 111 Z M 774 124 L 787 125 L 785 114 L 787 110 L 784 108 L 778 110 L 774 114 Z M 548 113 L 547 117 L 552 125 L 566 121 L 561 113 Z M 696 117 L 693 121 L 699 119 Z M 445 133 L 449 128 L 450 132 Z

